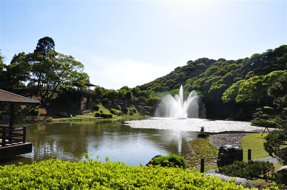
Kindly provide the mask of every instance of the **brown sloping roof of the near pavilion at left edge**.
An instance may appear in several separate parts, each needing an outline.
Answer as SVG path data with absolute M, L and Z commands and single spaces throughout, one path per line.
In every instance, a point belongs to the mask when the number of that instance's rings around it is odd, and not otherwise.
M 7 103 L 40 103 L 39 101 L 20 96 L 0 89 L 0 102 Z

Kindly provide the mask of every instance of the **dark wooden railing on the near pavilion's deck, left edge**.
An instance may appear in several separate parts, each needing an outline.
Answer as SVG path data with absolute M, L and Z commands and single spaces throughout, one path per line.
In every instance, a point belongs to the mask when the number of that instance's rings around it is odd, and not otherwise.
M 26 143 L 26 126 L 24 127 L 6 127 L 0 126 L 2 130 L 0 130 L 0 145 L 5 147 L 7 145 L 13 145 L 12 143 Z M 17 131 L 17 132 L 15 132 Z M 19 133 L 18 131 L 23 131 L 23 133 Z M 7 135 L 8 134 L 8 135 Z M 18 137 L 18 138 L 15 138 Z

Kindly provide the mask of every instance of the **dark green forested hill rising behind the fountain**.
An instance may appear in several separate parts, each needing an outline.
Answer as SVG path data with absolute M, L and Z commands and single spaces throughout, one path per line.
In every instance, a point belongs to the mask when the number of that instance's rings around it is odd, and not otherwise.
M 140 90 L 163 92 L 178 89 L 183 85 L 185 91 L 198 91 L 209 114 L 212 114 L 212 110 L 219 113 L 214 106 L 223 106 L 222 95 L 232 84 L 272 71 L 286 70 L 286 63 L 287 45 L 238 60 L 200 58 L 188 61 L 186 65 L 175 68 L 166 76 L 139 87 Z M 224 106 L 221 109 L 224 109 Z

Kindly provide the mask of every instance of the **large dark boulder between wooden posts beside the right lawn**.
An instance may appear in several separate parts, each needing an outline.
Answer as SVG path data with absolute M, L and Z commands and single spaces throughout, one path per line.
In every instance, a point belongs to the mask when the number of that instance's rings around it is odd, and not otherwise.
M 223 154 L 223 160 L 220 158 L 220 154 Z M 226 155 L 226 156 L 225 156 Z M 217 166 L 220 167 L 233 164 L 235 160 L 243 161 L 243 149 L 239 144 L 224 145 L 219 148 Z

